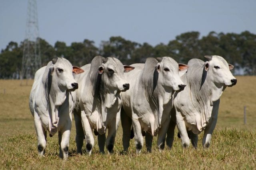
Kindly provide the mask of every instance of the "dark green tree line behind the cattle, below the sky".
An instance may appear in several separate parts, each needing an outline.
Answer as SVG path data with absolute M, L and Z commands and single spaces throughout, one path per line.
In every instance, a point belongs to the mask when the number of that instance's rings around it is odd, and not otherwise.
M 97 55 L 116 57 L 123 64 L 144 63 L 148 57 L 169 56 L 178 63 L 187 64 L 192 58 L 204 60 L 204 55 L 220 55 L 235 66 L 235 74 L 256 75 L 256 35 L 249 31 L 237 33 L 216 33 L 214 31 L 200 37 L 198 31 L 186 32 L 176 36 L 168 44 L 152 46 L 136 43 L 120 36 L 110 37 L 96 47 L 94 41 L 84 39 L 67 46 L 57 41 L 54 46 L 39 39 L 42 66 L 53 57 L 65 57 L 73 65 L 83 66 Z M 22 41 L 11 41 L 0 53 L 0 78 L 18 78 L 22 65 Z

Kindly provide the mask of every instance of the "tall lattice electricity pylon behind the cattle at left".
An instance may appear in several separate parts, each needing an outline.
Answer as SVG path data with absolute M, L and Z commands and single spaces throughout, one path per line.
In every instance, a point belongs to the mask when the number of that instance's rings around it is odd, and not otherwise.
M 36 0 L 28 0 L 26 37 L 23 44 L 23 57 L 20 79 L 34 78 L 41 66 L 39 29 Z M 27 82 L 28 83 L 28 82 Z M 22 82 L 21 82 L 22 84 Z

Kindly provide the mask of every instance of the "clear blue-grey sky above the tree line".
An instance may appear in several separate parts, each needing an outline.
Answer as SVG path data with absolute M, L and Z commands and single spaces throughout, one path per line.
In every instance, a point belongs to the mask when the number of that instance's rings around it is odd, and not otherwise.
M 27 0 L 0 0 L 0 49 L 25 38 Z M 151 45 L 199 31 L 256 34 L 256 0 L 38 0 L 40 37 L 89 39 L 99 47 L 111 36 Z

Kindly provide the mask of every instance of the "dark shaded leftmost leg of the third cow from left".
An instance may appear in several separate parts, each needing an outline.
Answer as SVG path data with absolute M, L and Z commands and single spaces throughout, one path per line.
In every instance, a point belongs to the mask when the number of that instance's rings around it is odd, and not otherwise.
M 132 128 L 132 119 L 126 115 L 123 108 L 121 109 L 121 124 L 123 129 L 123 147 L 124 152 L 127 152 L 130 146 L 130 137 L 131 137 L 131 128 Z

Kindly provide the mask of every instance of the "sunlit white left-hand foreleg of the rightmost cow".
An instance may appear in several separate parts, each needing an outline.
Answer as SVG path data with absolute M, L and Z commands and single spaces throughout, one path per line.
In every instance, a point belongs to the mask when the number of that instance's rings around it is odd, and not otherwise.
M 180 139 L 182 141 L 182 146 L 184 148 L 187 148 L 190 144 L 190 139 L 188 137 L 188 133 L 186 130 L 184 117 L 182 117 L 181 113 L 178 111 L 176 111 L 176 123 L 177 123 L 178 131 L 180 133 Z

